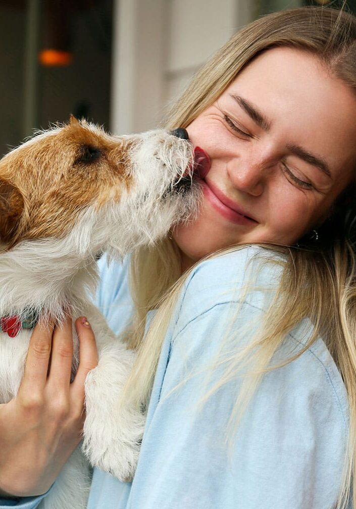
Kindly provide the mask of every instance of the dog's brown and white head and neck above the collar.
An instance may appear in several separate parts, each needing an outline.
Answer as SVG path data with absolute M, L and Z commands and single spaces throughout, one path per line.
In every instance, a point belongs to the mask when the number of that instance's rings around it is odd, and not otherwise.
M 62 317 L 99 251 L 123 257 L 193 218 L 190 142 L 165 130 L 112 136 L 71 118 L 0 161 L 0 316 Z

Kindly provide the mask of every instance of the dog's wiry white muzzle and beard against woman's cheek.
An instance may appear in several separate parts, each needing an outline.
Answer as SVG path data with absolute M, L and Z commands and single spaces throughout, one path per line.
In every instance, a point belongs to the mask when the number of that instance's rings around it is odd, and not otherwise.
M 202 189 L 193 175 L 193 146 L 164 131 L 150 131 L 130 151 L 133 186 L 112 216 L 106 249 L 123 256 L 143 244 L 153 244 L 177 223 L 195 219 Z

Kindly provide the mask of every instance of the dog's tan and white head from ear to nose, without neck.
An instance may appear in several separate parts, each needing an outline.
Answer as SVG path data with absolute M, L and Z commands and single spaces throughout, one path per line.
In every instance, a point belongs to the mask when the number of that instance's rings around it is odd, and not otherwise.
M 59 239 L 78 222 L 89 243 L 154 241 L 196 211 L 193 165 L 190 142 L 166 131 L 111 136 L 72 118 L 0 161 L 0 241 Z

